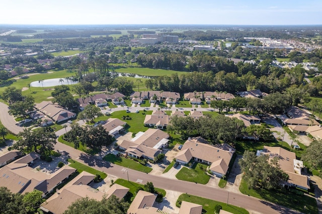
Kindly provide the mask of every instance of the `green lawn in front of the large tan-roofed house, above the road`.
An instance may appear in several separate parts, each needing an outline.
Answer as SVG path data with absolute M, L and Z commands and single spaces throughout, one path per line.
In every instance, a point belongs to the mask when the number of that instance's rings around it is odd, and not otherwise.
M 203 167 L 201 169 L 200 167 Z M 182 169 L 176 174 L 176 178 L 179 180 L 186 180 L 195 183 L 206 184 L 208 183 L 210 176 L 205 174 L 207 165 L 201 163 L 194 163 L 191 169 L 182 167 Z

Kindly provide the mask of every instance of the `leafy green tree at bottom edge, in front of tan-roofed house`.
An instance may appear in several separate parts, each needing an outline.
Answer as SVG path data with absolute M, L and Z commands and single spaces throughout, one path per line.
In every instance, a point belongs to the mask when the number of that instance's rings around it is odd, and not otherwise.
M 103 197 L 101 201 L 97 201 L 93 198 L 84 197 L 79 198 L 68 206 L 68 209 L 64 211 L 64 214 L 73 213 L 87 213 L 87 214 L 123 214 L 126 213 L 130 204 L 125 202 L 124 199 L 119 199 L 115 195 L 111 195 L 109 198 Z

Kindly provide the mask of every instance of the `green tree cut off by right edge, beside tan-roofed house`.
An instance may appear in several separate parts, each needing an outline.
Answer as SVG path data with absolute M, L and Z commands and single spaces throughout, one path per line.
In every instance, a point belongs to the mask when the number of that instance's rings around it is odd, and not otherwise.
M 304 161 L 311 170 L 320 169 L 322 167 L 321 154 L 322 141 L 313 140 L 302 155 L 301 160 Z

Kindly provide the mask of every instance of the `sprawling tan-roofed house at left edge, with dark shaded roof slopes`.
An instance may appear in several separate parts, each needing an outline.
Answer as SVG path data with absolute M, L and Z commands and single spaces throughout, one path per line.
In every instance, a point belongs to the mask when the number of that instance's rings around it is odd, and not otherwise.
M 0 169 L 0 185 L 13 193 L 24 194 L 37 189 L 45 197 L 60 183 L 64 182 L 76 169 L 63 166 L 53 174 L 39 172 L 29 166 L 38 155 L 31 153 Z

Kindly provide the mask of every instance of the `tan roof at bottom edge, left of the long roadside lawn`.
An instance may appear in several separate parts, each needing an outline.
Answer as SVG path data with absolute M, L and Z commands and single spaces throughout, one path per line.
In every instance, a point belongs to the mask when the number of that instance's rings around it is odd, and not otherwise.
M 155 201 L 156 194 L 146 192 L 146 191 L 138 191 L 134 200 L 132 201 L 127 213 L 141 213 L 139 209 L 143 207 L 151 207 Z

